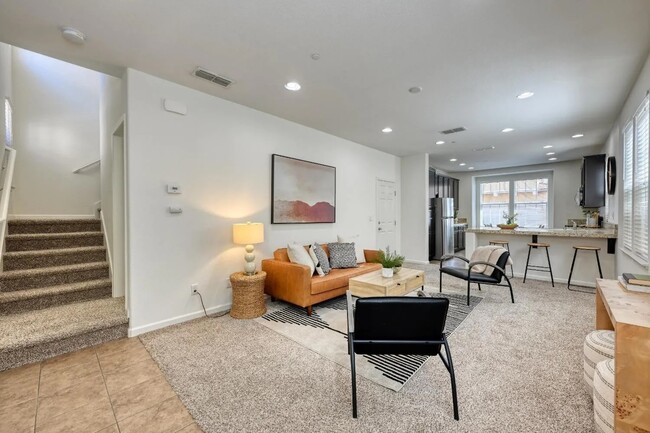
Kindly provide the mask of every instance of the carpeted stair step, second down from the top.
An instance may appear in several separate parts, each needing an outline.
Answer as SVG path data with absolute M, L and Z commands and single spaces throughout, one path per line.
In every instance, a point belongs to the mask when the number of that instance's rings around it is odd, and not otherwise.
M 102 232 L 29 233 L 7 235 L 7 252 L 53 250 L 104 245 Z

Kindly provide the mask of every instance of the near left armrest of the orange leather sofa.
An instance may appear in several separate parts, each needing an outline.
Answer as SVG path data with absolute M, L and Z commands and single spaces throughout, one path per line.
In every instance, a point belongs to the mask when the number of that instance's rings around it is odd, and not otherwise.
M 262 260 L 266 272 L 264 291 L 301 307 L 311 305 L 311 270 L 307 265 L 275 259 Z

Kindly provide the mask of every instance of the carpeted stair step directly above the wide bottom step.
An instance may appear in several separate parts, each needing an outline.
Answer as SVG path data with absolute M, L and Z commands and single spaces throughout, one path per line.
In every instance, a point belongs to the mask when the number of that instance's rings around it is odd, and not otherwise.
M 0 314 L 18 314 L 73 302 L 109 298 L 111 293 L 112 285 L 109 278 L 37 289 L 0 292 Z

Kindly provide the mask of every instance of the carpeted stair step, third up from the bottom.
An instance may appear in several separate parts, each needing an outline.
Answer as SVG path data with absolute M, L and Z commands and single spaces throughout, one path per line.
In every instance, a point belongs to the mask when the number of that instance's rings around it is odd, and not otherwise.
M 108 278 L 108 262 L 20 269 L 0 274 L 0 292 L 33 289 Z

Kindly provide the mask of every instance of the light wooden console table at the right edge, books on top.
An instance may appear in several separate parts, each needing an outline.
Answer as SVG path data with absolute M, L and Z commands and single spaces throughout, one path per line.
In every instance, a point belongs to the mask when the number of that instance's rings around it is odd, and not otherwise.
M 616 332 L 615 430 L 650 431 L 650 293 L 616 280 L 596 280 L 596 287 L 596 329 Z

